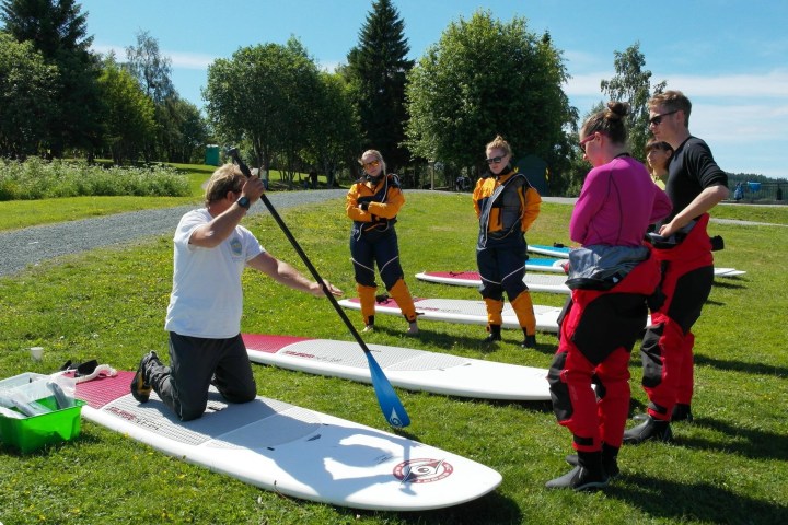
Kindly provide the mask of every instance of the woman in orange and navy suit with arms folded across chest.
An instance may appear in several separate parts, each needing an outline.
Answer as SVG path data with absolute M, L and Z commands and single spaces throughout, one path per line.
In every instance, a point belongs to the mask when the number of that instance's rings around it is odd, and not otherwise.
M 408 335 L 418 334 L 416 307 L 405 284 L 405 273 L 399 264 L 399 246 L 394 224 L 405 206 L 405 196 L 399 178 L 386 173 L 383 155 L 376 150 L 367 150 L 359 159 L 363 176 L 347 195 L 345 212 L 354 221 L 350 230 L 350 256 L 356 275 L 356 289 L 361 302 L 363 331 L 374 329 L 374 304 L 378 284 L 378 265 L 383 284 L 396 301 L 408 322 Z

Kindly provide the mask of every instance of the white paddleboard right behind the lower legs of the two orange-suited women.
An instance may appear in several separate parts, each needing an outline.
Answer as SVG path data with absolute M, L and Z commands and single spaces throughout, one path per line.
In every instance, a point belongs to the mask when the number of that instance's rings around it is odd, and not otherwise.
M 339 304 L 346 308 L 361 310 L 358 298 L 343 299 Z M 487 325 L 487 308 L 484 301 L 468 301 L 464 299 L 419 299 L 414 298 L 416 313 L 419 319 L 443 320 L 466 325 Z M 536 329 L 540 331 L 558 331 L 558 314 L 561 308 L 555 306 L 534 305 L 536 315 Z M 402 315 L 399 306 L 393 299 L 375 303 L 375 314 Z M 511 304 L 503 304 L 503 328 L 520 328 L 514 310 Z

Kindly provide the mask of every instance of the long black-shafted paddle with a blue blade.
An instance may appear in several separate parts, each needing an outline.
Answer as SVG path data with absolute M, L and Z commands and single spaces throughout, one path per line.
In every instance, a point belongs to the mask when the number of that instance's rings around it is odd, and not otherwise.
M 252 172 L 250 171 L 248 166 L 244 164 L 244 162 L 241 160 L 237 148 L 231 148 L 230 150 L 228 150 L 228 154 L 232 158 L 235 164 L 237 164 L 237 166 L 241 168 L 241 172 L 245 176 L 252 176 Z M 352 336 L 356 338 L 356 341 L 358 341 L 359 346 L 361 347 L 361 350 L 363 350 L 364 354 L 367 355 L 370 375 L 372 376 L 372 386 L 374 388 L 375 396 L 378 396 L 378 404 L 383 411 L 383 417 L 386 419 L 386 421 L 389 421 L 389 424 L 391 424 L 392 427 L 407 427 L 408 424 L 410 424 L 410 418 L 405 411 L 405 407 L 403 407 L 402 401 L 399 401 L 396 392 L 394 392 L 394 387 L 389 382 L 389 377 L 385 376 L 385 374 L 383 373 L 383 369 L 380 368 L 380 364 L 378 364 L 378 361 L 375 361 L 374 357 L 372 355 L 372 351 L 367 347 L 367 343 L 363 341 L 363 339 L 361 339 L 358 330 L 356 329 L 356 327 L 354 327 L 352 323 L 348 318 L 343 307 L 339 306 L 339 303 L 337 303 L 337 300 L 331 293 L 331 290 L 328 290 L 325 281 L 320 277 L 317 270 L 312 265 L 312 261 L 309 259 L 309 257 L 306 257 L 304 250 L 301 249 L 298 241 L 296 241 L 296 237 L 293 237 L 292 233 L 290 233 L 290 229 L 288 229 L 287 224 L 285 224 L 285 221 L 282 221 L 281 217 L 279 217 L 279 213 L 276 211 L 270 200 L 268 200 L 266 194 L 263 194 L 260 196 L 260 200 L 263 201 L 265 207 L 268 208 L 268 212 L 270 212 L 274 220 L 277 222 L 277 224 L 279 224 L 279 228 L 285 233 L 285 236 L 288 237 L 288 241 L 290 241 L 290 244 L 292 244 L 292 247 L 299 254 L 301 260 L 303 260 L 304 265 L 306 265 L 306 268 L 312 273 L 314 280 L 323 287 L 323 293 L 325 293 L 325 296 L 328 298 L 328 301 L 331 301 L 334 310 L 337 311 L 337 314 L 339 314 L 339 317 L 343 319 L 343 322 L 345 322 L 345 325 L 350 330 L 350 334 L 352 334 Z

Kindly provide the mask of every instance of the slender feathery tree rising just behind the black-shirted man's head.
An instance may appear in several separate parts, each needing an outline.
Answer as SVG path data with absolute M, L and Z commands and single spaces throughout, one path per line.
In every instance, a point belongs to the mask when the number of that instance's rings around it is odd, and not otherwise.
M 629 103 L 627 116 L 629 145 L 634 156 L 646 159 L 646 142 L 650 138 L 648 101 L 652 95 L 661 93 L 667 82 L 651 86 L 651 71 L 646 67 L 646 57 L 640 52 L 640 43 L 636 42 L 624 52 L 615 51 L 613 65 L 616 74 L 611 80 L 602 80 L 600 88 L 611 101 Z

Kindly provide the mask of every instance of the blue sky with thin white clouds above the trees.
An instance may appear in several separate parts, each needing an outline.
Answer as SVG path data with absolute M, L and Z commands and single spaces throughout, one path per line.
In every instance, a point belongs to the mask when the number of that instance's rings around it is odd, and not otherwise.
M 172 60 L 184 98 L 202 107 L 200 89 L 217 58 L 240 47 L 298 37 L 316 61 L 346 61 L 372 0 L 84 0 L 96 51 L 136 45 L 147 31 Z M 640 43 L 652 83 L 668 81 L 693 102 L 690 130 L 732 173 L 788 178 L 788 2 L 744 0 L 395 0 L 410 58 L 437 44 L 447 26 L 479 9 L 502 21 L 548 31 L 572 79 L 565 86 L 586 114 L 602 101 L 614 51 Z

